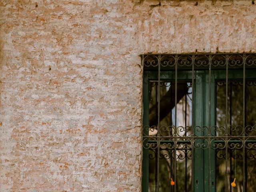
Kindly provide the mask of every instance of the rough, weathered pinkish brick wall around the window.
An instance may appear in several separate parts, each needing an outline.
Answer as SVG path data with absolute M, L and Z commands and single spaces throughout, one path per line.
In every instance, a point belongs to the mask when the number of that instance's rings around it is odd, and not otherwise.
M 146 52 L 256 52 L 252 1 L 0 0 L 0 191 L 137 192 Z

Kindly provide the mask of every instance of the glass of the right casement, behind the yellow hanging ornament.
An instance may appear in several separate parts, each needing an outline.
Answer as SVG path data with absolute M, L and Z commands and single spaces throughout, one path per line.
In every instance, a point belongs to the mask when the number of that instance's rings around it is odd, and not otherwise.
M 228 106 L 227 106 L 227 132 L 230 139 L 228 140 L 228 154 L 225 148 L 216 149 L 216 191 L 225 190 L 225 159 L 228 158 L 228 190 L 234 191 L 231 182 L 236 178 L 236 191 L 242 192 L 243 189 L 243 164 L 246 166 L 246 191 L 254 191 L 256 182 L 256 140 L 248 138 L 246 140 L 246 150 L 242 151 L 242 134 L 243 130 L 246 136 L 256 135 L 256 82 L 246 81 L 246 119 L 245 128 L 243 127 L 243 82 L 228 82 Z M 216 136 L 225 136 L 226 130 L 226 82 L 216 83 Z M 232 136 L 239 136 L 232 138 Z M 224 139 L 217 139 L 223 142 Z M 224 145 L 222 145 L 224 146 Z M 246 156 L 243 162 L 243 156 Z

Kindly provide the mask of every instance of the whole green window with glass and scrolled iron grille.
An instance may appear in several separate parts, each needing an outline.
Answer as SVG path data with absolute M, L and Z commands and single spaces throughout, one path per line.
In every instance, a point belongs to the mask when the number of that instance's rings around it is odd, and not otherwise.
M 254 192 L 256 54 L 141 57 L 142 191 Z

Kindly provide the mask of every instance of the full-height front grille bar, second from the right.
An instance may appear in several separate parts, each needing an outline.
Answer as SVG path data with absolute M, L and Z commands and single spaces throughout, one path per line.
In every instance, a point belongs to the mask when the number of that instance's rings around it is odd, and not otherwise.
M 225 192 L 228 192 L 228 55 L 226 55 Z M 230 157 L 231 158 L 231 157 Z

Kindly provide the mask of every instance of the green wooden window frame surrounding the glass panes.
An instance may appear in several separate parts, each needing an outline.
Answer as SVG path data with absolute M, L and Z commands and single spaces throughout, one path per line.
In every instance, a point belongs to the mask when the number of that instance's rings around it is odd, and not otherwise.
M 185 191 L 195 192 L 216 192 L 218 173 L 216 171 L 216 151 L 220 148 L 225 150 L 225 174 L 224 174 L 224 190 L 225 192 L 231 192 L 236 190 L 230 186 L 232 174 L 228 174 L 228 169 L 232 171 L 232 153 L 236 149 L 242 148 L 242 153 L 245 154 L 248 144 L 252 146 L 252 149 L 256 149 L 256 136 L 254 132 L 256 127 L 251 126 L 250 133 L 246 132 L 246 82 L 251 81 L 254 83 L 256 80 L 256 54 L 143 54 L 142 64 L 143 70 L 143 123 L 142 123 L 142 192 L 148 192 L 149 190 L 149 171 L 150 171 L 150 150 L 154 148 L 156 154 L 160 154 L 162 147 L 166 146 L 170 152 L 170 158 L 172 154 L 177 157 L 177 151 L 180 150 L 178 145 L 188 143 L 190 145 L 188 150 L 191 154 L 190 164 L 190 188 L 185 187 Z M 155 88 L 156 97 L 156 117 L 155 124 L 150 124 L 150 88 L 151 82 L 155 82 L 159 88 Z M 167 84 L 174 84 L 175 97 L 174 108 L 174 123 L 170 126 L 164 126 L 165 130 L 173 130 L 173 133 L 169 136 L 162 134 L 160 125 L 161 116 L 161 96 L 160 96 L 160 84 L 166 82 Z M 178 83 L 190 82 L 192 84 L 191 95 L 191 129 L 188 136 L 180 136 L 178 134 L 177 127 L 177 104 L 178 98 Z M 228 92 L 229 87 L 225 86 L 225 125 L 223 126 L 224 135 L 219 136 L 220 127 L 216 125 L 216 87 L 218 82 L 226 83 L 230 82 L 242 82 L 243 92 L 243 125 L 241 126 L 241 135 L 228 134 L 229 129 L 232 128 L 231 122 L 228 125 Z M 256 81 L 255 81 L 256 82 Z M 231 92 L 230 92 L 231 94 Z M 210 97 L 209 97 L 210 96 Z M 232 97 L 232 96 L 231 96 Z M 160 102 L 158 102 L 160 100 Z M 230 102 L 231 103 L 231 102 Z M 232 110 L 230 109 L 230 112 Z M 232 113 L 232 112 L 231 112 Z M 232 116 L 230 114 L 230 116 Z M 172 115 L 171 115 L 172 118 Z M 256 118 L 255 118 L 256 119 Z M 158 122 L 157 122 L 158 121 Z M 152 130 L 159 130 L 156 135 L 149 135 Z M 184 127 L 183 127 L 184 130 Z M 222 131 L 223 131 L 222 130 Z M 247 129 L 248 130 L 248 129 Z M 232 146 L 232 147 L 231 147 Z M 184 148 L 184 150 L 187 150 Z M 228 159 L 228 152 L 231 151 L 231 157 Z M 160 192 L 161 188 L 160 172 L 160 155 L 156 156 L 155 160 L 155 189 L 151 191 Z M 187 157 L 186 157 L 187 158 Z M 237 158 L 235 158 L 237 159 Z M 253 160 L 256 162 L 256 160 Z M 229 163 L 230 162 L 230 163 Z M 243 175 L 242 175 L 242 191 L 246 191 L 247 188 L 247 174 L 245 173 L 247 168 L 245 165 L 246 157 L 243 155 Z M 229 163 L 229 164 L 228 164 Z M 170 168 L 170 177 L 174 180 L 174 185 L 170 185 L 168 191 L 178 192 L 180 188 L 177 187 L 177 160 L 175 158 L 173 164 L 174 168 Z M 187 165 L 186 165 L 187 166 Z M 233 174 L 234 177 L 234 174 Z M 184 178 L 187 180 L 187 176 Z M 188 180 L 186 181 L 186 185 Z M 165 190 L 166 191 L 166 190 Z

